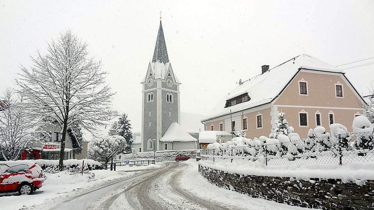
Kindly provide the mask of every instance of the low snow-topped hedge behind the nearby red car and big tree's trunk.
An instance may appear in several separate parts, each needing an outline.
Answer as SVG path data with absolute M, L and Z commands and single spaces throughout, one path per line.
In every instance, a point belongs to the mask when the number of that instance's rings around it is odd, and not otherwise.
M 95 160 L 84 159 L 84 170 L 98 170 L 102 169 L 101 163 Z M 8 161 L 0 161 L 1 163 L 6 164 Z M 42 169 L 47 173 L 56 173 L 58 172 L 58 163 L 59 160 L 16 160 L 12 161 L 13 163 L 19 164 L 30 164 L 30 163 L 37 163 Z M 64 160 L 64 170 L 74 171 L 74 170 L 82 170 L 82 163 L 83 160 L 76 160 L 76 159 L 69 159 Z

